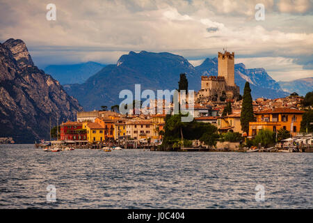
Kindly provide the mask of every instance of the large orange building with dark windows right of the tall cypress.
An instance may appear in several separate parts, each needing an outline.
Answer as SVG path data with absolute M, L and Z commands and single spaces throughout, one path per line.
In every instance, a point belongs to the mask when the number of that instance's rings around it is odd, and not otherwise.
M 292 135 L 300 130 L 303 111 L 297 109 L 268 109 L 256 112 L 257 121 L 249 123 L 249 136 L 255 136 L 259 130 L 267 129 L 273 132 L 281 128 L 288 130 Z

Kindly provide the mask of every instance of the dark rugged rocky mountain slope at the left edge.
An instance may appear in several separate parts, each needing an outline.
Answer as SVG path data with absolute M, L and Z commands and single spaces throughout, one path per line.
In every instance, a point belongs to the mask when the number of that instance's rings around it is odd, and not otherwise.
M 83 108 L 34 65 L 22 40 L 0 43 L 0 137 L 17 143 L 49 139 L 49 120 L 73 120 Z

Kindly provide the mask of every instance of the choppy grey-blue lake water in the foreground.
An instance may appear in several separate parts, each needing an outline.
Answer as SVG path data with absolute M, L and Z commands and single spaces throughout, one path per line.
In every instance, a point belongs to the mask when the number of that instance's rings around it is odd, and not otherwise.
M 0 145 L 0 208 L 313 208 L 312 158 Z M 47 185 L 56 186 L 54 203 Z

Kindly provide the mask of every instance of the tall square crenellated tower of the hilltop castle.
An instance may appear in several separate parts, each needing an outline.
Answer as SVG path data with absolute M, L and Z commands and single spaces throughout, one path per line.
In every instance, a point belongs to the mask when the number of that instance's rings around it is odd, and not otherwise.
M 235 86 L 234 52 L 218 52 L 218 77 L 224 77 L 227 86 Z

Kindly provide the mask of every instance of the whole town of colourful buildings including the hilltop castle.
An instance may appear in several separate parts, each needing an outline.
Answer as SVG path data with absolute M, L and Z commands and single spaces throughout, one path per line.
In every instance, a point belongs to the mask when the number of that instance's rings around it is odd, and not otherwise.
M 303 111 L 300 110 L 303 98 L 289 96 L 286 98 L 257 98 L 252 102 L 256 121 L 249 123 L 249 132 L 241 130 L 241 104 L 239 86 L 234 84 L 234 52 L 218 52 L 218 76 L 202 76 L 201 89 L 195 93 L 195 105 L 191 115 L 195 121 L 216 125 L 218 132 L 240 132 L 243 136 L 252 137 L 261 129 L 274 132 L 281 128 L 295 135 L 300 130 Z M 230 103 L 232 114 L 222 116 L 223 109 Z M 164 109 L 173 105 L 162 101 L 163 113 L 158 114 L 159 103 L 154 101 L 144 112 L 131 112 L 122 115 L 117 112 L 79 112 L 77 121 L 61 124 L 61 140 L 85 141 L 96 143 L 102 141 L 134 140 L 157 143 L 161 141 L 166 114 Z M 168 106 L 166 108 L 166 105 Z M 186 107 L 188 110 L 188 105 Z M 154 110 L 154 115 L 152 114 Z

